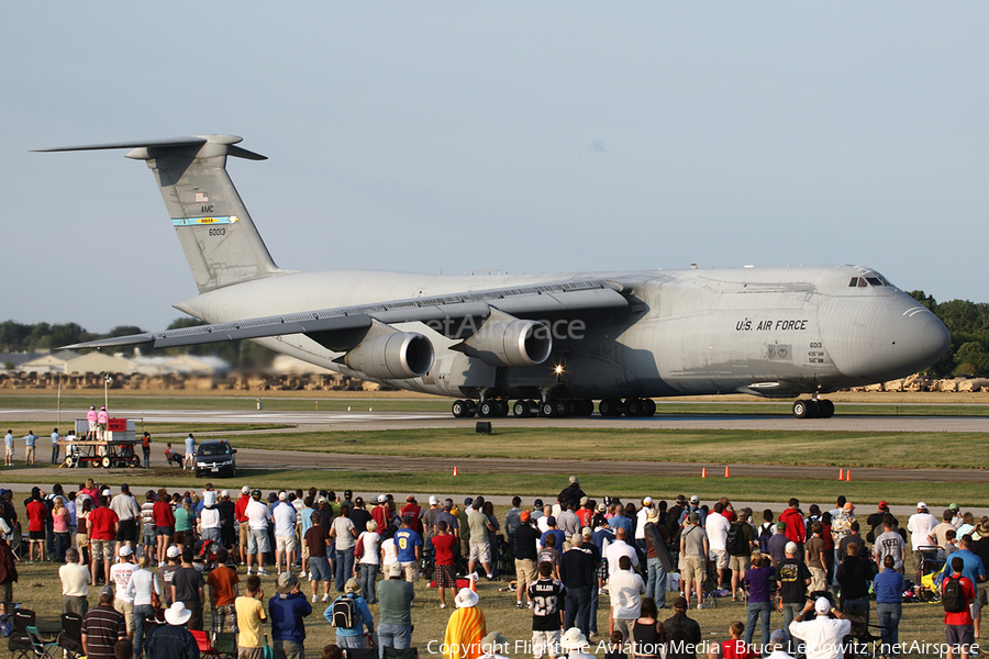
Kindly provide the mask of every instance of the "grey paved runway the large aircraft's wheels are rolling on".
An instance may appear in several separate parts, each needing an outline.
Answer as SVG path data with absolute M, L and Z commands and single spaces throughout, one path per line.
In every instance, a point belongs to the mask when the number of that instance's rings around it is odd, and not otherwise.
M 209 410 L 114 410 L 129 418 L 156 423 L 279 423 L 298 425 L 299 432 L 384 431 L 405 428 L 473 428 L 476 418 L 453 418 L 447 413 L 427 412 L 270 412 Z M 70 418 L 62 413 L 62 423 Z M 0 410 L 4 422 L 37 421 L 55 423 L 51 410 Z M 744 414 L 662 414 L 652 418 L 492 418 L 496 427 L 558 428 L 663 428 L 663 429 L 745 429 L 745 431 L 834 431 L 844 433 L 987 433 L 989 417 L 981 416 L 834 416 L 794 418 Z M 280 431 L 286 432 L 286 431 Z M 290 432 L 290 431 L 289 431 Z M 41 434 L 38 431 L 37 434 Z

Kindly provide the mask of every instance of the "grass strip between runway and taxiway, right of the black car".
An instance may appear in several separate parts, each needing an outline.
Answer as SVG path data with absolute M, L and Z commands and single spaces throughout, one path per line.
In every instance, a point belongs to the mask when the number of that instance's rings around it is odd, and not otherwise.
M 984 436 L 965 433 L 821 433 L 810 431 L 680 431 L 500 428 L 478 439 L 473 428 L 409 428 L 292 433 L 279 448 L 393 456 L 665 462 L 815 465 L 822 467 L 989 467 L 971 451 Z M 237 437 L 237 446 L 268 448 L 278 433 Z M 535 447 L 538 447 L 537 449 Z M 936 447 L 936 450 L 933 450 Z M 510 470 L 510 465 L 507 465 Z

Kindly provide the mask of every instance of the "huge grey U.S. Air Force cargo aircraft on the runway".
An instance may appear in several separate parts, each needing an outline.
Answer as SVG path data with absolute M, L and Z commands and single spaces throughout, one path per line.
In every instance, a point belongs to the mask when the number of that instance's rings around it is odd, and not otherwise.
M 132 149 L 157 179 L 202 326 L 68 346 L 165 348 L 252 339 L 341 373 L 453 396 L 457 417 L 651 416 L 653 399 L 798 398 L 909 376 L 945 326 L 858 266 L 430 276 L 275 265 L 226 172 L 263 160 L 233 135 L 40 149 Z M 805 398 L 799 398 L 805 394 Z

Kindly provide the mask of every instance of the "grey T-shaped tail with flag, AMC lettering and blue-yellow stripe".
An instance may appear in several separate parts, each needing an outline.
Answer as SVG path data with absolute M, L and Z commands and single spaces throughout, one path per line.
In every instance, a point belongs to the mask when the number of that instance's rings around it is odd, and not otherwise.
M 265 160 L 236 146 L 236 135 L 121 142 L 43 148 L 41 152 L 130 148 L 158 181 L 199 292 L 284 273 L 254 226 L 226 174 L 226 157 Z

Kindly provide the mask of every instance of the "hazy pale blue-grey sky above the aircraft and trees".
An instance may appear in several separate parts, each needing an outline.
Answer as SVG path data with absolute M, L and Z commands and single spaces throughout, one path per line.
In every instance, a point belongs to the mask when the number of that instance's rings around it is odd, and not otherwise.
M 989 301 L 986 2 L 9 2 L 0 320 L 196 294 L 147 167 L 242 135 L 279 266 L 858 264 Z

